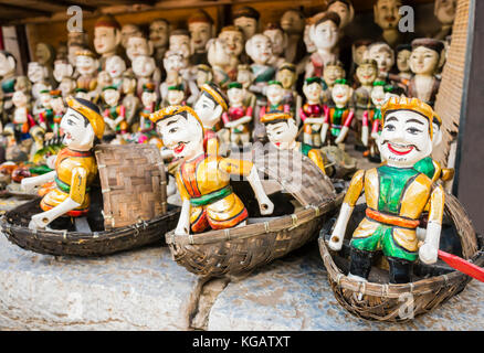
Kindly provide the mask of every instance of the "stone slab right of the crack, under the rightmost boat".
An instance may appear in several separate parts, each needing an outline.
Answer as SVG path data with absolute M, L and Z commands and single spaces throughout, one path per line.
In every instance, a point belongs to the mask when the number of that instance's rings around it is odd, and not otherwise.
M 208 330 L 483 330 L 484 284 L 409 323 L 358 319 L 338 304 L 316 243 L 232 280 L 211 308 Z

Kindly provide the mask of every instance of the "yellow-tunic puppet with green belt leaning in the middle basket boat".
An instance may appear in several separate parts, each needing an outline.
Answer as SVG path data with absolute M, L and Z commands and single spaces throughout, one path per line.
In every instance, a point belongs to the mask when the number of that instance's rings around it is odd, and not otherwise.
M 248 218 L 248 211 L 230 186 L 230 175 L 246 176 L 261 214 L 271 214 L 274 205 L 262 188 L 255 167 L 243 160 L 218 154 L 217 139 L 203 150 L 203 126 L 196 111 L 187 106 L 170 106 L 150 116 L 166 147 L 183 159 L 176 179 L 183 201 L 176 234 L 200 233 L 208 228 L 230 228 Z

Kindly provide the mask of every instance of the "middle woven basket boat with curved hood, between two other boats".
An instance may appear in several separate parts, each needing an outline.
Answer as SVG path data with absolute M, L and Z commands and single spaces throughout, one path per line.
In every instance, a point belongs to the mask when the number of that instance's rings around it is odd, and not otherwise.
M 249 211 L 244 226 L 210 231 L 188 236 L 167 233 L 166 242 L 175 260 L 202 277 L 223 277 L 250 271 L 303 246 L 317 236 L 328 212 L 343 201 L 344 185 L 335 190 L 332 181 L 309 159 L 298 152 L 265 150 L 253 162 L 270 178 L 275 191 L 267 191 L 274 214 L 261 217 L 250 185 L 232 183 Z M 302 161 L 301 164 L 297 164 Z M 298 169 L 297 165 L 302 169 Z M 290 204 L 295 205 L 293 207 Z

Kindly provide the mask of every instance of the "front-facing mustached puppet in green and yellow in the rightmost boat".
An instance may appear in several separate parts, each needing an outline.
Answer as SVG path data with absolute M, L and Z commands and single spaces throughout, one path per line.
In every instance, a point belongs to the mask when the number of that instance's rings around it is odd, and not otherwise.
M 430 175 L 415 167 L 433 147 L 432 108 L 417 98 L 390 98 L 381 108 L 383 129 L 378 147 L 386 164 L 358 171 L 349 185 L 329 239 L 341 248 L 353 208 L 365 191 L 366 217 L 353 234 L 349 276 L 366 280 L 375 252 L 382 250 L 390 265 L 390 282 L 408 282 L 412 263 L 436 261 L 444 207 L 444 192 Z M 431 162 L 431 160 L 430 160 Z M 419 249 L 417 227 L 424 210 L 429 222 Z

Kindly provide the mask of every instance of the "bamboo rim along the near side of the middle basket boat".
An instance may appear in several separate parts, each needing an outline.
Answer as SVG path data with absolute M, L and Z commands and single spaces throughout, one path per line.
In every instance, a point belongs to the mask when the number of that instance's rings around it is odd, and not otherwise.
M 167 244 L 179 245 L 204 245 L 219 243 L 221 240 L 244 239 L 271 232 L 281 232 L 287 228 L 295 228 L 306 224 L 314 218 L 325 214 L 332 210 L 333 205 L 338 205 L 343 202 L 345 194 L 340 193 L 334 199 L 328 199 L 319 205 L 308 205 L 293 214 L 269 220 L 263 223 L 249 224 L 243 227 L 234 227 L 228 229 L 210 231 L 200 234 L 176 235 L 175 229 L 166 234 Z

